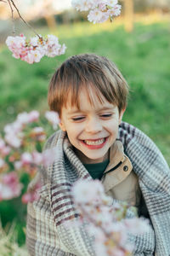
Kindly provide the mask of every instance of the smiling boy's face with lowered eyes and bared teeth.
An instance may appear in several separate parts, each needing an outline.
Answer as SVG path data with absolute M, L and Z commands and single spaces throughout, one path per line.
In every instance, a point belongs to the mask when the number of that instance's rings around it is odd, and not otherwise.
M 104 100 L 100 103 L 94 92 L 94 106 L 87 91 L 79 94 L 80 109 L 68 103 L 60 116 L 60 128 L 67 132 L 71 144 L 82 163 L 102 162 L 109 157 L 109 148 L 116 141 L 122 114 L 116 106 Z

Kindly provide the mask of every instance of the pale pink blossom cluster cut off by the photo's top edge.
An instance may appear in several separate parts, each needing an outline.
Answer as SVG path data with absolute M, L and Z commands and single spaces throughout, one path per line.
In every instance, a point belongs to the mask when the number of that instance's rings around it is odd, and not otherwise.
M 113 20 L 121 14 L 121 5 L 117 0 L 72 0 L 72 7 L 79 11 L 89 11 L 88 20 L 93 23 L 102 23 Z

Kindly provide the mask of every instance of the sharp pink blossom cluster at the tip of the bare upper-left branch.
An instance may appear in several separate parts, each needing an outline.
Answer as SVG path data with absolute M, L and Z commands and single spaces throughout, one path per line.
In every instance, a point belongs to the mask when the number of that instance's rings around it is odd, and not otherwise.
M 48 35 L 47 38 L 38 35 L 26 41 L 26 37 L 21 34 L 16 37 L 8 37 L 6 44 L 8 49 L 12 51 L 14 58 L 29 64 L 39 62 L 44 55 L 48 57 L 63 55 L 66 49 L 65 44 L 59 44 L 59 39 L 54 35 Z

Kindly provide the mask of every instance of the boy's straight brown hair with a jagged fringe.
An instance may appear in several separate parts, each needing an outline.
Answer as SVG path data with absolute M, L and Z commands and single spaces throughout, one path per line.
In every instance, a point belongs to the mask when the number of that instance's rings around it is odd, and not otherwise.
M 54 73 L 48 89 L 49 108 L 60 115 L 68 96 L 71 105 L 79 108 L 78 93 L 82 87 L 88 90 L 92 104 L 94 91 L 101 103 L 105 98 L 119 111 L 127 106 L 128 84 L 116 65 L 103 56 L 83 54 L 72 56 Z

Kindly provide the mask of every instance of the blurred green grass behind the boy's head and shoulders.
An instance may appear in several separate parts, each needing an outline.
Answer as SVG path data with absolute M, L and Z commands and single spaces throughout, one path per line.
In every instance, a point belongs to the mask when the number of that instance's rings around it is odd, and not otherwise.
M 135 24 L 133 33 L 127 33 L 114 23 L 83 23 L 58 26 L 55 34 L 67 45 L 66 54 L 34 65 L 15 60 L 5 47 L 1 50 L 0 128 L 21 111 L 47 109 L 48 81 L 55 68 L 70 55 L 94 52 L 115 61 L 131 87 L 124 120 L 149 135 L 170 164 L 169 24 Z

